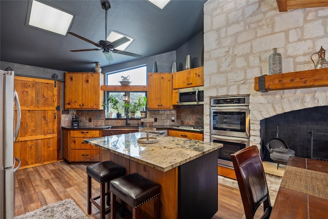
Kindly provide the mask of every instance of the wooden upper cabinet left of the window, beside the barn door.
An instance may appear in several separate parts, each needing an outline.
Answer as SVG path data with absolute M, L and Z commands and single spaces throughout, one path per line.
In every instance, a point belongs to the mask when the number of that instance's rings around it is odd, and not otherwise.
M 103 109 L 104 75 L 97 72 L 65 72 L 65 109 Z

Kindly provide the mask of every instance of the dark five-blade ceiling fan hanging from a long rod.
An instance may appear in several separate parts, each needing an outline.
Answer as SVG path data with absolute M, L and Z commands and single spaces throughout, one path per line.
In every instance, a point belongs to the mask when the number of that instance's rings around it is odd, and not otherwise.
M 110 62 L 110 52 L 113 52 L 113 53 L 118 53 L 118 54 L 122 54 L 122 55 L 129 55 L 129 56 L 133 56 L 133 57 L 142 57 L 142 55 L 139 55 L 139 54 L 135 54 L 135 53 L 132 53 L 132 52 L 126 52 L 126 51 L 122 51 L 122 50 L 118 50 L 118 49 L 115 49 L 116 47 L 122 45 L 122 44 L 125 44 L 127 42 L 130 41 L 130 39 L 126 36 L 123 36 L 119 39 L 117 39 L 116 41 L 114 42 L 109 42 L 109 41 L 106 41 L 106 37 L 107 37 L 107 11 L 111 8 L 111 5 L 109 4 L 109 2 L 103 2 L 101 3 L 101 7 L 103 9 L 106 10 L 106 20 L 105 20 L 105 40 L 100 40 L 98 41 L 97 43 L 93 42 L 93 41 L 90 41 L 90 39 L 87 39 L 83 36 L 80 36 L 80 35 L 77 35 L 76 33 L 73 33 L 73 32 L 67 32 L 68 34 L 71 34 L 77 38 L 80 38 L 82 39 L 83 41 L 86 41 L 90 44 L 93 44 L 95 45 L 96 47 L 99 47 L 99 48 L 95 48 L 95 49 L 78 49 L 78 50 L 70 50 L 71 52 L 84 52 L 84 51 L 98 51 L 98 50 L 103 50 L 103 53 L 104 55 L 106 56 L 107 60 Z

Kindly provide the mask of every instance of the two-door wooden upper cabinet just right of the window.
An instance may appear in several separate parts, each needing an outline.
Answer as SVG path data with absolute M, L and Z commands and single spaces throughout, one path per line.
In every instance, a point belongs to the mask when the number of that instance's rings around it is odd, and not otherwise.
M 172 73 L 148 73 L 149 109 L 173 109 Z

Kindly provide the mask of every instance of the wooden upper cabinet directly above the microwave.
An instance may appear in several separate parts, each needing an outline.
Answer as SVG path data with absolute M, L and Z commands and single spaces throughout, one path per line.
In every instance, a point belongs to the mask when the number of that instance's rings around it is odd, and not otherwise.
M 192 68 L 173 73 L 173 89 L 204 85 L 204 67 Z

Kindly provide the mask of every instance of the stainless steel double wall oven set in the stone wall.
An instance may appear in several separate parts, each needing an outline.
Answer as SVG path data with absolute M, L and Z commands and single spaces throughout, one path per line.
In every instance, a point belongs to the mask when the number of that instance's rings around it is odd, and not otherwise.
M 218 165 L 233 169 L 230 154 L 250 146 L 250 97 L 211 98 L 211 142 L 221 143 Z

